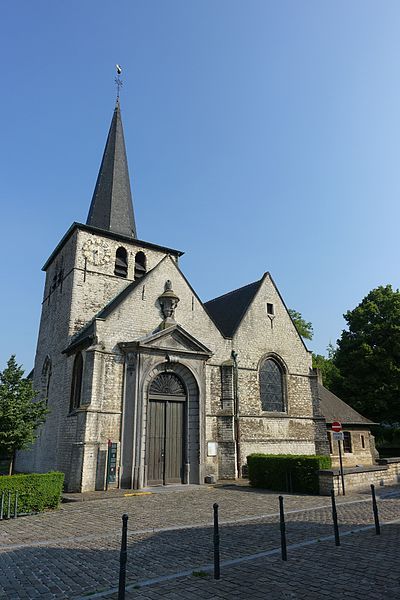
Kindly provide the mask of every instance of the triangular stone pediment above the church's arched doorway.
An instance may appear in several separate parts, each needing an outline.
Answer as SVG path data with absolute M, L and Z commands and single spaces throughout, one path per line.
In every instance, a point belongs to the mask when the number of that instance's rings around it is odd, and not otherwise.
M 140 340 L 120 344 L 125 351 L 129 349 L 174 351 L 183 354 L 203 355 L 209 358 L 212 352 L 207 346 L 193 337 L 180 325 L 172 325 Z

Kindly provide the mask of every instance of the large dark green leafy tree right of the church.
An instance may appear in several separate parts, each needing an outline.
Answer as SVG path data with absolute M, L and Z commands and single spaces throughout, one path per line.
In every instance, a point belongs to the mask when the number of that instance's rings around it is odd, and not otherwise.
M 400 422 L 400 292 L 380 286 L 344 318 L 334 391 L 376 422 Z

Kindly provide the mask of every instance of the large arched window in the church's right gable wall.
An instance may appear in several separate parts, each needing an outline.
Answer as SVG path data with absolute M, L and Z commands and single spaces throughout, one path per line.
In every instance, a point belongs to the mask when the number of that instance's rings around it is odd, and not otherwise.
M 284 412 L 284 372 L 278 361 L 265 359 L 260 366 L 260 399 L 262 410 Z

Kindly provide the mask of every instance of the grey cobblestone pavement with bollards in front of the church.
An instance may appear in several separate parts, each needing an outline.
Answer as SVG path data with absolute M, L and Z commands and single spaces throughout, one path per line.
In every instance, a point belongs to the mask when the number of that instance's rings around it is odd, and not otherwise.
M 368 593 L 371 573 L 387 572 L 386 587 L 382 587 L 381 575 L 376 580 L 381 587 L 375 589 L 374 597 L 400 599 L 400 574 L 395 576 L 399 572 L 399 525 L 385 525 L 381 538 L 372 531 L 347 536 L 337 549 L 332 541 L 323 541 L 332 534 L 330 498 L 295 495 L 285 496 L 291 552 L 287 564 L 275 553 L 224 567 L 224 578 L 219 582 L 209 575 L 191 576 L 136 589 L 137 584 L 152 578 L 182 572 L 207 573 L 207 565 L 212 563 L 214 502 L 220 506 L 222 561 L 240 561 L 279 548 L 277 494 L 248 487 L 179 488 L 64 504 L 59 511 L 0 523 L 0 598 L 112 597 L 118 581 L 121 515 L 126 512 L 127 582 L 135 598 L 301 598 L 301 589 L 296 586 L 302 582 L 311 591 L 313 585 L 319 585 L 321 595 L 311 597 L 322 598 L 325 592 L 321 575 L 326 575 L 328 581 L 332 569 L 339 575 L 343 569 L 341 581 L 348 577 L 354 588 L 354 579 L 361 577 L 368 582 L 364 586 Z M 382 522 L 400 522 L 400 491 L 391 493 L 386 489 L 379 510 Z M 370 525 L 373 517 L 369 497 L 338 498 L 338 515 L 342 532 Z M 314 542 L 291 548 L 304 541 Z M 265 586 L 272 586 L 275 596 L 267 596 Z M 389 589 L 390 593 L 377 596 L 380 589 Z M 363 596 L 368 597 L 365 593 Z

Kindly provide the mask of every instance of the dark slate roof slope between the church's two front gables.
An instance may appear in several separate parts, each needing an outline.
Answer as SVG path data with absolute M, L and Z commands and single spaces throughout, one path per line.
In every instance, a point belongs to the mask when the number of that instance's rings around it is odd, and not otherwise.
M 225 337 L 234 335 L 263 279 L 204 303 L 208 314 Z

